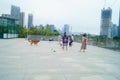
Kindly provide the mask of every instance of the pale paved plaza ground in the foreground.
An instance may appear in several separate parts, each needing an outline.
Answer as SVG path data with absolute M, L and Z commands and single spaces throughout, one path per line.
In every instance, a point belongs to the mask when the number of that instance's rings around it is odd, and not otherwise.
M 120 80 L 120 52 L 80 43 L 68 51 L 57 42 L 31 46 L 25 39 L 0 40 L 0 80 Z

